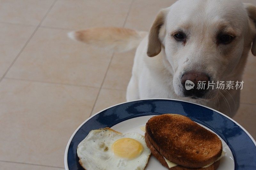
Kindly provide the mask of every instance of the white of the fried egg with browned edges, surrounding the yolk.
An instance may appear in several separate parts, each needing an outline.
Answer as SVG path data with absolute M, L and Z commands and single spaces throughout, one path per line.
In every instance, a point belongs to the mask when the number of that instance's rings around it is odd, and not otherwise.
M 112 150 L 116 140 L 126 137 L 139 141 L 144 147 L 143 152 L 134 159 L 118 157 Z M 150 154 L 144 136 L 136 132 L 121 134 L 112 129 L 92 130 L 77 146 L 79 163 L 86 170 L 142 170 Z

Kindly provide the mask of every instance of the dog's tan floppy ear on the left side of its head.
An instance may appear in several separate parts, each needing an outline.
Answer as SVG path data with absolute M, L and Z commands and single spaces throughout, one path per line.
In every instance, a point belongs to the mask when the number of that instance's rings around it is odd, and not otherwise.
M 154 57 L 161 52 L 162 43 L 159 40 L 158 34 L 161 26 L 165 22 L 165 17 L 168 13 L 168 9 L 162 9 L 156 16 L 153 25 L 150 28 L 149 35 L 148 35 L 148 51 L 147 54 L 149 57 Z

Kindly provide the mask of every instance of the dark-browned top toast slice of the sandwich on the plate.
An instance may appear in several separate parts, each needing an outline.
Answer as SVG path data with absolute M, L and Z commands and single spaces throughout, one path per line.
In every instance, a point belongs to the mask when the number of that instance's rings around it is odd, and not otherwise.
M 160 155 L 183 167 L 209 165 L 222 152 L 217 135 L 183 115 L 152 117 L 146 124 L 145 136 Z

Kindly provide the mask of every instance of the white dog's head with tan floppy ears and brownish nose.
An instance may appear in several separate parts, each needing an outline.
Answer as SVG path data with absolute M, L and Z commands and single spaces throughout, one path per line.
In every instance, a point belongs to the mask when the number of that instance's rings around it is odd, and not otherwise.
M 150 29 L 147 54 L 153 57 L 163 50 L 177 95 L 211 99 L 218 90 L 207 90 L 208 81 L 226 80 L 236 69 L 242 72 L 239 64 L 250 48 L 256 55 L 255 24 L 252 4 L 180 0 L 158 13 Z M 186 90 L 186 80 L 195 85 L 205 82 L 205 89 Z

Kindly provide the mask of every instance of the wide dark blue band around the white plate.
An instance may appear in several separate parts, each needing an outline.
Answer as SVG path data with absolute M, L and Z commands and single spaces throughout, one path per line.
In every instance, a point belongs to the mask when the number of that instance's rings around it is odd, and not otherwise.
M 175 113 L 188 116 L 217 133 L 231 149 L 235 169 L 256 170 L 256 146 L 247 133 L 227 117 L 203 106 L 178 100 L 139 100 L 110 107 L 85 122 L 72 138 L 68 148 L 69 170 L 82 170 L 76 154 L 77 145 L 93 129 L 112 127 L 125 120 Z M 131 127 L 132 128 L 132 127 Z

